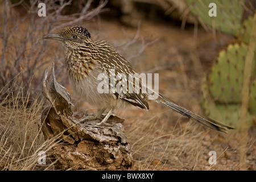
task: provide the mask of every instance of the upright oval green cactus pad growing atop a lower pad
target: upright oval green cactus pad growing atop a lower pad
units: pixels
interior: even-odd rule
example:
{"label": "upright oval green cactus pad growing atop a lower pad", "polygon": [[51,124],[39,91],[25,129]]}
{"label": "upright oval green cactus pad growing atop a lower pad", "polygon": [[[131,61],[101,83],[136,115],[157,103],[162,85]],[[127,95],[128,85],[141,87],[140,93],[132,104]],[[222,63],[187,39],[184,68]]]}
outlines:
{"label": "upright oval green cactus pad growing atop a lower pad", "polygon": [[246,55],[247,45],[243,43],[231,44],[225,51],[219,53],[217,62],[208,77],[209,91],[215,101],[241,102]]}

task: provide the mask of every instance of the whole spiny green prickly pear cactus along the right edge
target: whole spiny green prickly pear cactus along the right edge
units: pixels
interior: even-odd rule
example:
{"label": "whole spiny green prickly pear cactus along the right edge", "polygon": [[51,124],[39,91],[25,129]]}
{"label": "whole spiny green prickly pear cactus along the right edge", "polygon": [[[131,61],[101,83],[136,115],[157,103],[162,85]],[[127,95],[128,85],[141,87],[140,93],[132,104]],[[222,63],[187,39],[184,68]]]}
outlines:
{"label": "whole spiny green prickly pear cactus along the right edge", "polygon": [[[205,78],[201,89],[203,91],[204,113],[208,117],[227,125],[236,127],[241,114],[242,88],[246,58],[252,60],[252,74],[249,85],[249,114],[247,121],[256,121],[256,60],[255,50],[249,46],[256,44],[256,15],[242,20],[245,0],[185,0],[190,13],[204,26],[207,24],[214,30],[234,35],[236,44],[230,44],[218,55],[212,71]],[[210,3],[216,4],[217,16],[210,17]],[[245,8],[245,9],[243,9]],[[254,47],[254,46],[253,46]],[[248,53],[248,54],[247,54]],[[252,55],[252,56],[251,56]],[[249,62],[250,62],[249,61]],[[247,63],[249,63],[247,62]],[[251,62],[250,62],[251,64]]]}

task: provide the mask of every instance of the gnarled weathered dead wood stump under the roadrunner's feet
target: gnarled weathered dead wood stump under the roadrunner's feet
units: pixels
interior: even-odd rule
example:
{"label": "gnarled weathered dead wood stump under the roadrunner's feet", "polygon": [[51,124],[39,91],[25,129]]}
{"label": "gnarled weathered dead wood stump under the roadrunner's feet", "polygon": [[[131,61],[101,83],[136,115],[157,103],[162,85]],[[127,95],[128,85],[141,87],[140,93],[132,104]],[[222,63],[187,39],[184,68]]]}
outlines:
{"label": "gnarled weathered dead wood stump under the roadrunner's feet", "polygon": [[[70,94],[56,81],[54,64],[49,76],[48,70],[45,72],[43,94],[51,102],[42,113],[44,138],[51,139],[61,133],[60,139],[64,142],[50,151],[60,168],[131,169],[133,157],[122,124],[112,122],[111,126],[96,126],[93,125],[96,120],[81,123],[81,119],[73,117]],[[112,121],[120,119],[112,115]]]}

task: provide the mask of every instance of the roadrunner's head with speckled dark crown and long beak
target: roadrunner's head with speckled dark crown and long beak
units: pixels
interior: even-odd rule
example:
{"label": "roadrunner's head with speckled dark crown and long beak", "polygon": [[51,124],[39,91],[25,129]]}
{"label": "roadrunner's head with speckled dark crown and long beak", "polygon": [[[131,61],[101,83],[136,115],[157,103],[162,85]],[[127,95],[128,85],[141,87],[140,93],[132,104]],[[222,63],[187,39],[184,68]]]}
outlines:
{"label": "roadrunner's head with speckled dark crown and long beak", "polygon": [[79,44],[88,44],[91,42],[89,31],[82,26],[65,27],[57,34],[46,34],[44,39],[60,41],[66,48],[74,48]]}

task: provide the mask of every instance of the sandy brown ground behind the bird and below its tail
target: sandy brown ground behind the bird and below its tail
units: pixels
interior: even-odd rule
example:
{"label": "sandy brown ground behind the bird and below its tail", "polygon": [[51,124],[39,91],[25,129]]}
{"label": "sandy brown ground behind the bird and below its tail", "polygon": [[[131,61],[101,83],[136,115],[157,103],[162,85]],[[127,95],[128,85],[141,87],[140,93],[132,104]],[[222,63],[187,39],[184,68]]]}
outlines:
{"label": "sandy brown ground behind the bird and below its tail", "polygon": [[[176,23],[148,20],[142,20],[139,28],[129,28],[115,20],[101,19],[97,26],[94,24],[87,28],[93,40],[112,43],[138,73],[159,73],[159,93],[197,113],[202,113],[202,78],[218,52],[233,39],[221,33],[213,37],[211,32],[201,27],[195,35],[192,25],[181,30]],[[138,38],[130,44],[136,34]],[[90,107],[80,102],[79,110]],[[150,111],[130,106],[126,110],[115,111],[115,114],[125,118],[123,125],[136,169],[241,169],[239,151],[242,135],[239,131],[218,133],[152,101]],[[249,129],[246,152],[249,170],[256,169],[255,139],[254,126]],[[212,156],[210,151],[216,151],[216,165],[208,162]]]}

